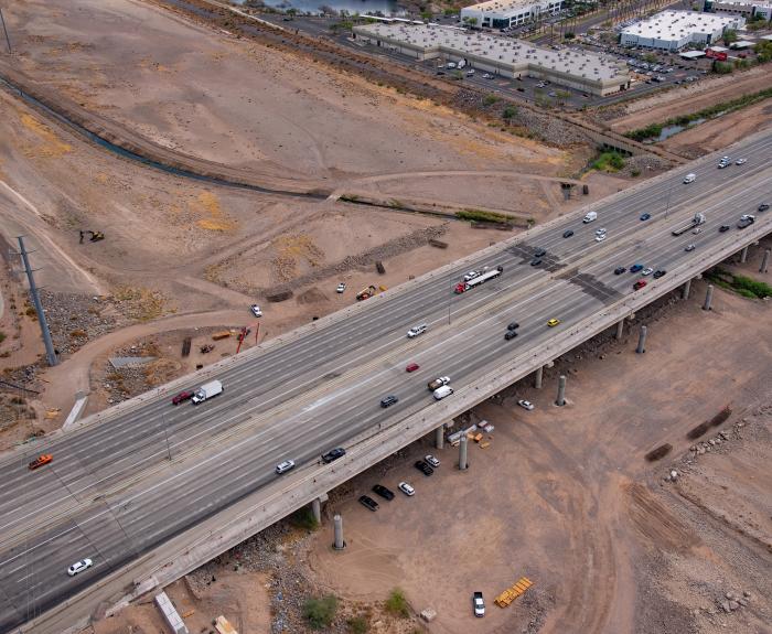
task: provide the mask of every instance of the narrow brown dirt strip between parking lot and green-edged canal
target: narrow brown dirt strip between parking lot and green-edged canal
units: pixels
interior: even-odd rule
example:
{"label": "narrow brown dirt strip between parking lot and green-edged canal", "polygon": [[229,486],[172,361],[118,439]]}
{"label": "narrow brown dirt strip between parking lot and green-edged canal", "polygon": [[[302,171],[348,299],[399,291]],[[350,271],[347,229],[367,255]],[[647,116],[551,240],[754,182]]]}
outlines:
{"label": "narrow brown dirt strip between parking lot and green-edged canal", "polygon": [[[609,125],[614,131],[628,132],[770,87],[772,87],[772,73],[766,66],[751,68],[741,74],[709,77],[694,84],[684,84],[653,97],[637,99],[621,108],[614,107],[613,111],[621,114],[611,119]],[[742,116],[742,112],[747,111],[742,110],[739,114]],[[753,120],[757,123],[761,121],[761,119]],[[698,128],[701,129],[703,126]]]}

